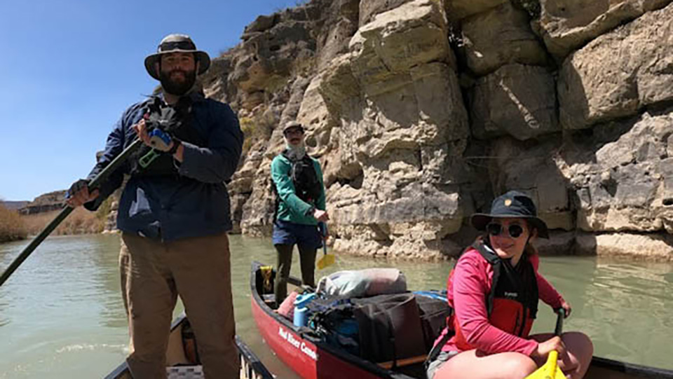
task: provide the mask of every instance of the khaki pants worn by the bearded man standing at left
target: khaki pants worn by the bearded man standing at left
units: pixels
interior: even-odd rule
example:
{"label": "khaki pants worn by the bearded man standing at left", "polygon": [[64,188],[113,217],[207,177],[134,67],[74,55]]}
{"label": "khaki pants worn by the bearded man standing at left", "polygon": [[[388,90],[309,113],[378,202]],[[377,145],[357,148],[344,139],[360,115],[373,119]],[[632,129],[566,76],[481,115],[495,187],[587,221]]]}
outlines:
{"label": "khaki pants worn by the bearded man standing at left", "polygon": [[172,311],[182,298],[205,378],[238,378],[226,233],[161,242],[122,233],[121,291],[136,379],[166,378]]}

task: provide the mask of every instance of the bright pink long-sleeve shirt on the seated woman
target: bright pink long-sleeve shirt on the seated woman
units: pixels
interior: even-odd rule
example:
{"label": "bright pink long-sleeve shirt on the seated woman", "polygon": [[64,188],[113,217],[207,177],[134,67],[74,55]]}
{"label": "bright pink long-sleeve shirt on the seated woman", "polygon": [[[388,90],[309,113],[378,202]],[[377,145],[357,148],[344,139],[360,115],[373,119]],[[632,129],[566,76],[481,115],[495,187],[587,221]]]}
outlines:
{"label": "bright pink long-sleeve shirt on the seated woman", "polygon": [[[533,264],[538,282],[539,298],[552,308],[559,308],[564,300],[558,291],[538,273],[540,263],[538,256],[533,255],[529,259]],[[465,251],[458,259],[454,273],[447,283],[449,305],[454,308],[454,317],[458,319],[463,335],[470,345],[489,354],[520,352],[530,355],[538,347],[536,341],[507,333],[489,323],[484,299],[490,294],[492,283],[493,267],[479,254],[479,251],[475,249]],[[442,336],[437,338],[437,341]],[[455,336],[452,337],[442,347],[442,351],[462,351],[456,346],[455,339]]]}

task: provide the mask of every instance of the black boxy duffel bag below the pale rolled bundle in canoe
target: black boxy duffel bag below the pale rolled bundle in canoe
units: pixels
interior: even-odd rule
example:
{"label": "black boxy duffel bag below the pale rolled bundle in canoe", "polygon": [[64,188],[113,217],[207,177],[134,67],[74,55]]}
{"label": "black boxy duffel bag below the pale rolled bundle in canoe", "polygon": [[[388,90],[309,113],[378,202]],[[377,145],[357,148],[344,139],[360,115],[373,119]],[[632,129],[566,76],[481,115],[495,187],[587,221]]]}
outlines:
{"label": "black boxy duffel bag below the pale rolled bundle in canoe", "polygon": [[[397,361],[426,354],[419,305],[411,292],[353,298],[360,331],[360,357]],[[395,363],[393,363],[395,365]]]}

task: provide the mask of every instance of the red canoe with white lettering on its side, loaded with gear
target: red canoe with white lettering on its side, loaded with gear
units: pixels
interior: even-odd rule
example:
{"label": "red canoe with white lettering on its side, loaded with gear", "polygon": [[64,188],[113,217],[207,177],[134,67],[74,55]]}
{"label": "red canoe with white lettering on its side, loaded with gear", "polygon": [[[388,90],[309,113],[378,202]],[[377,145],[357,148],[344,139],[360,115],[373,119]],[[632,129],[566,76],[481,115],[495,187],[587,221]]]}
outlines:
{"label": "red canoe with white lettering on its side, loaded with gear", "polygon": [[[273,290],[271,294],[262,291],[262,287],[273,289],[273,279],[264,286],[259,262],[252,263],[250,289],[252,291],[252,316],[262,338],[278,357],[290,366],[301,378],[305,379],[426,379],[423,371],[423,359],[407,362],[398,361],[395,371],[383,368],[390,364],[375,364],[360,357],[329,345],[307,333],[306,327],[297,327],[274,312],[269,304],[275,304]],[[301,281],[290,277],[290,284],[301,285]],[[406,365],[405,365],[406,364]],[[673,379],[673,371],[627,364],[611,359],[594,357],[587,379],[637,379],[657,378]]]}

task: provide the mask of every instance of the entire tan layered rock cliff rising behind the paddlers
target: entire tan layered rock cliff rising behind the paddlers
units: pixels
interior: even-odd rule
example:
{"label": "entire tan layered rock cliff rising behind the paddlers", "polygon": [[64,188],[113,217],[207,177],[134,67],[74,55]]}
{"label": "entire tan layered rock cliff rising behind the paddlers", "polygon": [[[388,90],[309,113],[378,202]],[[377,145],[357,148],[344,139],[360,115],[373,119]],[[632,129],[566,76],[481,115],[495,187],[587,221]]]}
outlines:
{"label": "entire tan layered rock cliff rising behind the paddlers", "polygon": [[[329,243],[456,256],[473,212],[529,193],[545,254],[673,260],[669,0],[313,0],[213,60],[246,132],[235,231],[271,231],[279,125],[320,160]],[[537,35],[536,35],[537,34]]]}

